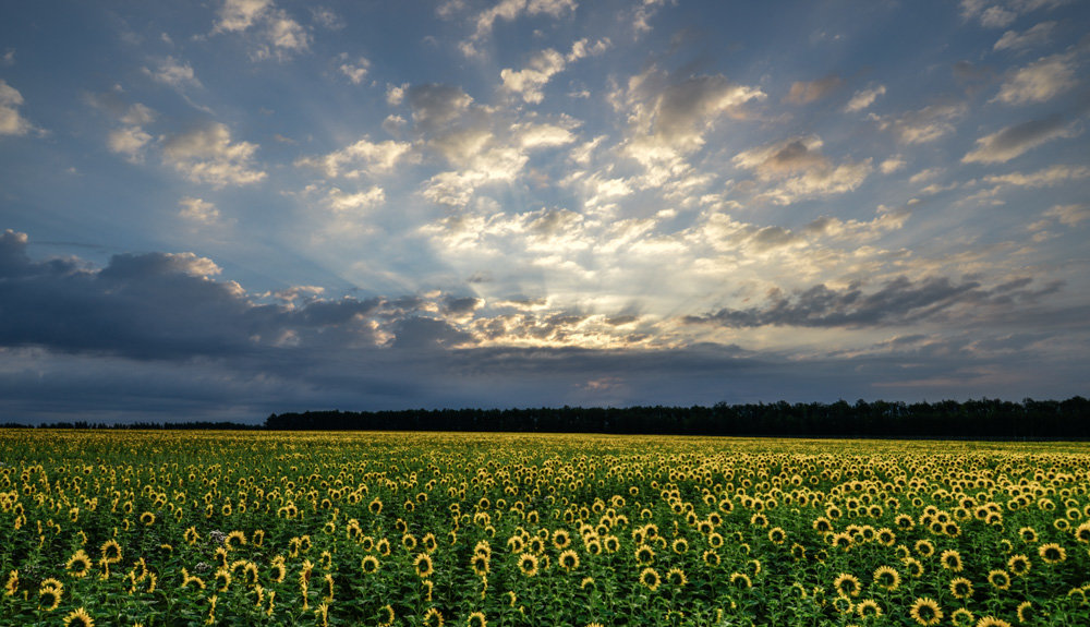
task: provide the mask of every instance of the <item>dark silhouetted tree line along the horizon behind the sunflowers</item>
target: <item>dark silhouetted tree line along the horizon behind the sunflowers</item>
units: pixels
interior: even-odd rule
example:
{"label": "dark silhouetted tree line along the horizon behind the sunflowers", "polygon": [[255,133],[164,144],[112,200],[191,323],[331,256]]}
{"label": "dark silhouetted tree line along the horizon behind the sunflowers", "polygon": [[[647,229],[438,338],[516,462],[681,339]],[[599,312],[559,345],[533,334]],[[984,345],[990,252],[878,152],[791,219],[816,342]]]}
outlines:
{"label": "dark silhouetted tree line along the horizon behind the sunflowers", "polygon": [[[24,426],[8,424],[4,426]],[[53,423],[39,429],[240,429],[266,431],[471,431],[616,433],[782,437],[877,437],[962,439],[1090,439],[1090,400],[958,402],[844,400],[833,403],[728,405],[713,407],[413,409],[306,411],[269,415],[264,424],[230,422],[89,424]]]}

